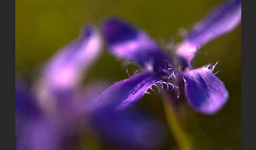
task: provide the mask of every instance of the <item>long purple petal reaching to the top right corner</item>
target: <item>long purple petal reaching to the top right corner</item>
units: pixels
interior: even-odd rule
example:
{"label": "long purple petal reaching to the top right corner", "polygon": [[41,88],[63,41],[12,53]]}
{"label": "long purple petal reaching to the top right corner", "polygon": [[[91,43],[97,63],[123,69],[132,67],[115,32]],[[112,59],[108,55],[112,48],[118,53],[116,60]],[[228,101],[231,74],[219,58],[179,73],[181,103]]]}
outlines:
{"label": "long purple petal reaching to the top right corner", "polygon": [[196,24],[178,48],[183,67],[191,66],[196,51],[207,42],[229,33],[241,22],[241,0],[231,0],[214,8]]}

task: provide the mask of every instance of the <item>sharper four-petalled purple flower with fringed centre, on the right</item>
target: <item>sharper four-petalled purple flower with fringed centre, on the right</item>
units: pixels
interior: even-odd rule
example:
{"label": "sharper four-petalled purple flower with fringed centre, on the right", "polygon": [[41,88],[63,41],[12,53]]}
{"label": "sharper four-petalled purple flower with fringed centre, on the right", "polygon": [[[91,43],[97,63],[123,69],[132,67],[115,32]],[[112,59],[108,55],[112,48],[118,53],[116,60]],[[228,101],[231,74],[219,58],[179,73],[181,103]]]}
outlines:
{"label": "sharper four-petalled purple flower with fringed centre, on the right", "polygon": [[[229,33],[241,22],[241,1],[229,1],[216,7],[210,15],[198,23],[178,47],[175,56],[168,56],[144,31],[140,31],[118,18],[105,20],[102,32],[110,52],[119,58],[132,61],[141,73],[116,82],[105,90],[94,106],[117,110],[127,108],[157,85],[166,91],[175,91],[176,97],[184,94],[189,104],[203,114],[218,112],[228,100],[228,91],[222,81],[213,73],[216,66],[209,64],[191,69],[192,60],[198,48],[210,40]],[[178,59],[184,71],[174,68]],[[160,88],[157,87],[157,89]]]}

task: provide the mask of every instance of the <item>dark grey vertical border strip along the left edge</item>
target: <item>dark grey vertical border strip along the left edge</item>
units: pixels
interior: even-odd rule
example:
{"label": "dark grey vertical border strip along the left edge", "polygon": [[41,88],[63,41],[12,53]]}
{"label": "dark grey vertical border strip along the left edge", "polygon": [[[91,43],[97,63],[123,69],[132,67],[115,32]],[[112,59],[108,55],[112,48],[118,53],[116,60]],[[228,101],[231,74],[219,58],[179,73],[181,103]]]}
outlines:
{"label": "dark grey vertical border strip along the left edge", "polygon": [[15,0],[1,7],[1,148],[15,149]]}

